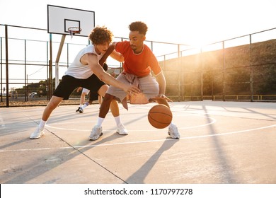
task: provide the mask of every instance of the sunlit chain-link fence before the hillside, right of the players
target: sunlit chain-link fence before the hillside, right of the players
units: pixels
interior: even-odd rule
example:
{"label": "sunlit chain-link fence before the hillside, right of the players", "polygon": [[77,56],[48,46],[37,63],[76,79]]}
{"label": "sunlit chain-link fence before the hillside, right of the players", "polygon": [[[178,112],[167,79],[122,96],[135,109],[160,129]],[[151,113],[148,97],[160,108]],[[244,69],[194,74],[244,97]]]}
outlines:
{"label": "sunlit chain-link fence before the hillside, right of the players", "polygon": [[[276,101],[276,28],[159,57],[173,100]],[[174,53],[177,56],[179,52]]]}

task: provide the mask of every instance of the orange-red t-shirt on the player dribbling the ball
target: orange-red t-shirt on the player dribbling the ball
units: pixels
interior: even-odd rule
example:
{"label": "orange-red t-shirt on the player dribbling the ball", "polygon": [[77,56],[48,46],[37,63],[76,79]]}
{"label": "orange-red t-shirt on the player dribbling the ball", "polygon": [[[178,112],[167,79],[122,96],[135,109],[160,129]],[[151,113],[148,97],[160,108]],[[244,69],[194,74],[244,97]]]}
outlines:
{"label": "orange-red t-shirt on the player dribbling the ball", "polygon": [[125,59],[123,69],[128,74],[135,76],[147,76],[154,71],[154,74],[161,72],[161,67],[149,47],[144,45],[144,49],[139,54],[134,54],[129,41],[117,42],[115,50],[120,52]]}

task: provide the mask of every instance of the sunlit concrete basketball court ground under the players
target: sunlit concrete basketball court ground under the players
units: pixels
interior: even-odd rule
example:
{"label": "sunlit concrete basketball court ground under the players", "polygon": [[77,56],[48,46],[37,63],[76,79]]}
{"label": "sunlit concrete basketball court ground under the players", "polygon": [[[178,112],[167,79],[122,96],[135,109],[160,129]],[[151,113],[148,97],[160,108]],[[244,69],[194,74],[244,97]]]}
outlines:
{"label": "sunlit concrete basketball court ground under the players", "polygon": [[29,136],[45,107],[0,108],[1,184],[275,184],[276,103],[173,102],[173,123],[155,129],[147,113],[156,103],[120,105],[127,136],[109,112],[103,136],[89,141],[99,105],[76,113],[57,107],[45,135]]}

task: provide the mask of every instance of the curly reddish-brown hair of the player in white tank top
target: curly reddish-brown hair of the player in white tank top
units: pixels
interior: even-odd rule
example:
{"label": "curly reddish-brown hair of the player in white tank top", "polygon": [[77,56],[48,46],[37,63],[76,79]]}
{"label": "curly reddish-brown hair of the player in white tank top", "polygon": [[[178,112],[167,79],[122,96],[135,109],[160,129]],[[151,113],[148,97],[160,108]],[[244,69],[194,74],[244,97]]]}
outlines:
{"label": "curly reddish-brown hair of the player in white tank top", "polygon": [[89,35],[89,39],[93,43],[93,45],[101,45],[105,44],[105,42],[112,42],[113,39],[113,33],[108,30],[105,26],[100,27],[97,26],[96,28],[93,28]]}

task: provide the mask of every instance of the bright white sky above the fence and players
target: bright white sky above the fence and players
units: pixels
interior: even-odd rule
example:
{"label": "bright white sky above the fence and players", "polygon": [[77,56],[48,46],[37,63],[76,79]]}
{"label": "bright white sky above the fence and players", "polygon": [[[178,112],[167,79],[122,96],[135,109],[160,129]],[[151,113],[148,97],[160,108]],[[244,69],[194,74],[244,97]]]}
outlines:
{"label": "bright white sky above the fence and players", "polygon": [[95,11],[96,25],[116,37],[143,21],[146,40],[192,46],[276,27],[275,0],[0,0],[0,24],[47,29],[47,4]]}

